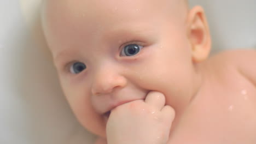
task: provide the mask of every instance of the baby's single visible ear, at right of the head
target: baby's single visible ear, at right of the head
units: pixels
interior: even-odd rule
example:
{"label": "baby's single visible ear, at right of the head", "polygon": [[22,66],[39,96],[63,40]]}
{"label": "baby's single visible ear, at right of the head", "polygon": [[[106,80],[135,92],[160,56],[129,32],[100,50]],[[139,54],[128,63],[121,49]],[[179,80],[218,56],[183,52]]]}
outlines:
{"label": "baby's single visible ear, at right of the head", "polygon": [[189,11],[187,24],[193,62],[204,61],[211,50],[211,36],[202,7],[195,6]]}

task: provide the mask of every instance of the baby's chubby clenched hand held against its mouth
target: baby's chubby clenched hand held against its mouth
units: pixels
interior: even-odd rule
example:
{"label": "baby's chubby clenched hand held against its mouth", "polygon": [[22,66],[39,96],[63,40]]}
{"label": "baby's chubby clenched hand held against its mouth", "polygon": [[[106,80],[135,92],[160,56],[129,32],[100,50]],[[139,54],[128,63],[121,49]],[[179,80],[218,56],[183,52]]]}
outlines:
{"label": "baby's chubby clenched hand held against its mouth", "polygon": [[165,105],[165,96],[149,92],[145,101],[135,100],[112,110],[107,123],[108,144],[165,144],[174,110]]}

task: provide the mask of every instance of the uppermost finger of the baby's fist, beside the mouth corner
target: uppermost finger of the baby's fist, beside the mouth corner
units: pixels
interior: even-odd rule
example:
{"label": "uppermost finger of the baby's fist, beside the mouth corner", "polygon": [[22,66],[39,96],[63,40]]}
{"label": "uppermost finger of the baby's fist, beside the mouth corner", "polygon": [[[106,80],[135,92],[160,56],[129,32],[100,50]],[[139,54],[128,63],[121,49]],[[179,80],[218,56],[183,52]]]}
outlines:
{"label": "uppermost finger of the baby's fist, beside the mouth corner", "polygon": [[165,95],[155,91],[149,92],[145,103],[154,106],[157,110],[161,110],[165,105]]}

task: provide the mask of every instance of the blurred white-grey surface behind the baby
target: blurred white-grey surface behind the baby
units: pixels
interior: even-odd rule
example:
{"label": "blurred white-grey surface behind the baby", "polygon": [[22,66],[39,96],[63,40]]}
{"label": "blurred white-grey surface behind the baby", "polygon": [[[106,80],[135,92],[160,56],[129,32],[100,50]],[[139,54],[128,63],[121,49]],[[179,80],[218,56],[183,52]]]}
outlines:
{"label": "blurred white-grey surface behind the baby", "polygon": [[[91,143],[63,98],[39,25],[40,0],[0,0],[0,143]],[[256,47],[255,0],[194,0],[213,51]],[[252,64],[255,67],[255,64]]]}

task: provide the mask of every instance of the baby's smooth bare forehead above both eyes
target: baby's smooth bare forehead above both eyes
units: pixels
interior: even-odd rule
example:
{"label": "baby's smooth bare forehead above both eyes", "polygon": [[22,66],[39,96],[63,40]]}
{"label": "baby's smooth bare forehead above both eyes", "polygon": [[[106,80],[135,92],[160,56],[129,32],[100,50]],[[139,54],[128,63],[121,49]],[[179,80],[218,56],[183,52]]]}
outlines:
{"label": "baby's smooth bare forehead above both eyes", "polygon": [[[43,26],[50,47],[74,47],[101,29],[154,25],[182,0],[44,0]],[[175,11],[175,10],[173,10]],[[170,16],[168,16],[170,17]],[[137,22],[137,23],[136,23]],[[133,25],[135,24],[135,25]],[[82,36],[82,37],[81,37]],[[71,40],[73,39],[73,40]],[[55,48],[54,48],[55,49]],[[59,49],[59,48],[58,48]]]}

